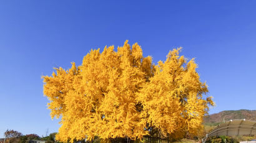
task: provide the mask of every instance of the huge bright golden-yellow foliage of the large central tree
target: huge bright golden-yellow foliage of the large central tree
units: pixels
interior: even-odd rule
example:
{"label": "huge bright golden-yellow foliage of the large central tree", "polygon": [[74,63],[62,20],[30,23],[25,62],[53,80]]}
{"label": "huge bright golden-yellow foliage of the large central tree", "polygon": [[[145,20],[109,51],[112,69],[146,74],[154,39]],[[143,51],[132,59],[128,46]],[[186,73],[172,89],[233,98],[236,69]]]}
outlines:
{"label": "huge bright golden-yellow foliage of the large central tree", "polygon": [[165,62],[152,63],[136,43],[128,41],[91,50],[82,65],[55,68],[43,76],[51,117],[61,118],[56,139],[67,142],[100,137],[142,139],[154,131],[162,139],[197,134],[211,97],[200,81],[194,59],[170,51]]}

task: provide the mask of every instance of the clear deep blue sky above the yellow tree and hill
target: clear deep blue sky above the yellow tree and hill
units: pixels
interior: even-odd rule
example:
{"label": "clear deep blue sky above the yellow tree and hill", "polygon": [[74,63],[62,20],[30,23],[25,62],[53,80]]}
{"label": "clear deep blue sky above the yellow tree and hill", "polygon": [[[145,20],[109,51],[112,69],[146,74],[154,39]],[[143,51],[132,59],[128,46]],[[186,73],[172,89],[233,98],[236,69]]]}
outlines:
{"label": "clear deep blue sky above the yellow tree and hill", "polygon": [[81,64],[91,48],[139,42],[156,63],[195,57],[217,104],[256,109],[256,1],[0,1],[0,137],[56,132],[42,75]]}

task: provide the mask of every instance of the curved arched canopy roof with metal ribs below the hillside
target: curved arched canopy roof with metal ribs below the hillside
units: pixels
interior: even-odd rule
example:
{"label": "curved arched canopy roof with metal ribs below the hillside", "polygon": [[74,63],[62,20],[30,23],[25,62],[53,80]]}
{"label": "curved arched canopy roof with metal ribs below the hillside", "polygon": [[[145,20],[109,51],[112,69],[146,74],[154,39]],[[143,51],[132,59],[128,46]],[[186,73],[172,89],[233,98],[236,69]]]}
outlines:
{"label": "curved arched canopy roof with metal ribs below the hillside", "polygon": [[207,137],[212,136],[239,136],[239,135],[256,135],[256,121],[249,121],[246,119],[236,119],[230,120],[223,124],[219,124],[214,130],[209,132],[203,142]]}

